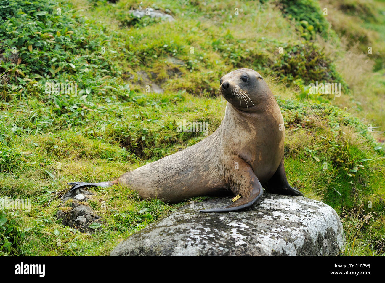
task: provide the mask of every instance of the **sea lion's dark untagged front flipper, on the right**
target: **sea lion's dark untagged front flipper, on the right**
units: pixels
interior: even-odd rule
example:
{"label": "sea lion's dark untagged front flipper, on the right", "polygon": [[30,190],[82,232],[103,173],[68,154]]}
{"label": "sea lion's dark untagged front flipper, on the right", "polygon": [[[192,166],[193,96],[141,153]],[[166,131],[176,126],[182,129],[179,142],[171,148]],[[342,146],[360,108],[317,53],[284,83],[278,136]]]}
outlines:
{"label": "sea lion's dark untagged front flipper, on the right", "polygon": [[285,172],[285,157],[273,177],[266,184],[266,190],[273,194],[285,194],[286,196],[304,196],[303,193],[290,186]]}

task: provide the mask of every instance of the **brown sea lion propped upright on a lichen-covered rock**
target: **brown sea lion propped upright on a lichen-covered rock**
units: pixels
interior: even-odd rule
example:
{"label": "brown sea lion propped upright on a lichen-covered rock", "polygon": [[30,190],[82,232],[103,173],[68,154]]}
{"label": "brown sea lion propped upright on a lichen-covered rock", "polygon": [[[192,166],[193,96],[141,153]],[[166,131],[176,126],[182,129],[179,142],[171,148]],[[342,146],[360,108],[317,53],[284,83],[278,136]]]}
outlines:
{"label": "brown sea lion propped upright on a lichen-covered rock", "polygon": [[71,190],[120,184],[139,191],[143,199],[170,203],[226,191],[237,196],[226,207],[203,212],[247,208],[262,197],[262,186],[271,193],[303,196],[286,179],[283,117],[261,75],[234,70],[221,78],[219,93],[227,100],[224,118],[203,141],[111,182],[69,183]]}

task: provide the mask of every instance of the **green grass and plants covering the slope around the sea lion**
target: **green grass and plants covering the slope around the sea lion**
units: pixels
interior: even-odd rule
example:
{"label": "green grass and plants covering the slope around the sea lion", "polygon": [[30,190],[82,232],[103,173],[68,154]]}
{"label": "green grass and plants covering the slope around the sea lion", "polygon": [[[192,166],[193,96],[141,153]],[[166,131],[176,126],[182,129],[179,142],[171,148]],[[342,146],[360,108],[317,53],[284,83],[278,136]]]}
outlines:
{"label": "green grass and plants covering the slope around the sea lion", "polygon": [[[177,132],[183,119],[208,121],[214,132],[226,106],[216,96],[219,78],[242,67],[263,74],[277,97],[290,183],[343,219],[342,255],[383,255],[385,152],[368,124],[384,129],[384,70],[378,58],[352,56],[362,50],[348,49],[338,30],[325,38],[328,23],[316,2],[306,7],[315,9],[305,11],[307,24],[296,22],[304,20],[302,10],[283,10],[286,1],[143,2],[171,13],[171,23],[133,21],[127,11],[138,8],[134,1],[72,2],[0,1],[10,5],[2,8],[8,18],[0,26],[0,58],[7,59],[0,61],[0,196],[32,203],[29,213],[0,214],[1,255],[108,255],[122,239],[189,203],[141,200],[119,186],[92,188],[89,205],[102,216],[102,229],[92,235],[57,221],[59,198],[47,204],[67,182],[110,181],[205,138]],[[346,17],[358,15],[350,8]],[[309,23],[317,28],[304,35],[301,27]],[[381,33],[372,25],[365,30]],[[359,67],[364,60],[369,67],[363,78],[341,64]],[[137,83],[141,70],[163,94]],[[45,93],[50,80],[76,82],[77,95]],[[315,80],[344,84],[343,95],[305,95]],[[363,85],[371,91],[360,90]],[[348,111],[352,104],[357,111]]]}

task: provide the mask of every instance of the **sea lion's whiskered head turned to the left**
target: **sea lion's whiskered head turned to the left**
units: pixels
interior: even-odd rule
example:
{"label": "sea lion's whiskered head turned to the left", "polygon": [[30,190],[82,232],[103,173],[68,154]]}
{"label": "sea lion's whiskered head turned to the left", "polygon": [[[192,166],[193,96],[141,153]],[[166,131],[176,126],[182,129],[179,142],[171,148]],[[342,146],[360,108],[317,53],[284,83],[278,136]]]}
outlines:
{"label": "sea lion's whiskered head turned to the left", "polygon": [[262,76],[252,69],[238,69],[221,77],[219,94],[242,111],[253,111],[271,91]]}

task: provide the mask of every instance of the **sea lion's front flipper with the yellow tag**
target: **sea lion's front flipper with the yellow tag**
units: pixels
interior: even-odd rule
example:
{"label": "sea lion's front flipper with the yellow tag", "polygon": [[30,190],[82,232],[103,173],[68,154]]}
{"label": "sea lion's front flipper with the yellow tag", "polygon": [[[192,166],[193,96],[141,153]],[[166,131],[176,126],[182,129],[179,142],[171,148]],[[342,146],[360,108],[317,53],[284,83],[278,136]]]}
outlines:
{"label": "sea lion's front flipper with the yellow tag", "polygon": [[[239,163],[239,169],[234,175],[237,179],[238,184],[234,184],[233,186],[239,186],[240,188],[234,188],[232,191],[234,194],[240,194],[240,198],[234,198],[233,202],[228,206],[223,206],[221,208],[209,208],[209,209],[201,209],[201,212],[229,212],[236,211],[248,208],[253,204],[257,203],[259,199],[263,196],[263,188],[257,176],[255,176],[253,169],[251,169],[250,165],[244,161],[236,161]],[[244,195],[244,196],[242,196]],[[246,196],[248,195],[248,196]]]}

